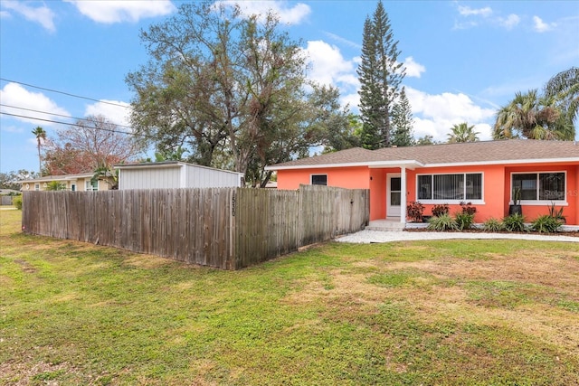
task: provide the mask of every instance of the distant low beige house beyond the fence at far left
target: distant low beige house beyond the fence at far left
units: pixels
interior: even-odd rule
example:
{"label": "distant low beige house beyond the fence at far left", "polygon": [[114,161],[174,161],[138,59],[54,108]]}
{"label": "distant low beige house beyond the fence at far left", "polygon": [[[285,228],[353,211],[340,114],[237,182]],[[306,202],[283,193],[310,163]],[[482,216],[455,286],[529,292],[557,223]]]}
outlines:
{"label": "distant low beige house beyond the fence at far left", "polygon": [[62,174],[62,175],[45,175],[40,178],[20,181],[22,184],[20,189],[23,192],[27,191],[45,191],[48,185],[54,181],[62,184],[65,191],[72,192],[97,192],[108,191],[114,184],[104,180],[92,180],[94,173],[84,174]]}

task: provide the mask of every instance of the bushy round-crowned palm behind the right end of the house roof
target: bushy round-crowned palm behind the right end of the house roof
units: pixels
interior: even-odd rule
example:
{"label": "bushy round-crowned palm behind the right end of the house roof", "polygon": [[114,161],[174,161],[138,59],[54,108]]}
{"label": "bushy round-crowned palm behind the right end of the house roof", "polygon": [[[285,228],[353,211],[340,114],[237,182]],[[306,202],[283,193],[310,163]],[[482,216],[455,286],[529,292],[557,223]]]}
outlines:
{"label": "bushy round-crowned palm behind the right end of the house roof", "polygon": [[517,92],[507,106],[500,108],[493,128],[495,139],[574,139],[573,122],[553,96],[539,96],[536,89]]}

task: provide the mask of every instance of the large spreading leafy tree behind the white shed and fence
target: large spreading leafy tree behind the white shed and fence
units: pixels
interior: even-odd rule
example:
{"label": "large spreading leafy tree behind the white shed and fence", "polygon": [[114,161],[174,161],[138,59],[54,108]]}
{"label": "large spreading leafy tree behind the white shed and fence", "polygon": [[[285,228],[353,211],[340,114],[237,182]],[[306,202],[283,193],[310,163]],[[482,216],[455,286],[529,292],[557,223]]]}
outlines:
{"label": "large spreading leafy tree behind the white shed and fence", "polygon": [[185,4],[141,40],[150,60],[127,76],[132,122],[158,152],[180,148],[183,160],[211,166],[230,157],[235,171],[265,184],[265,165],[321,144],[323,127],[311,125],[319,88],[308,83],[304,51],[274,14]]}

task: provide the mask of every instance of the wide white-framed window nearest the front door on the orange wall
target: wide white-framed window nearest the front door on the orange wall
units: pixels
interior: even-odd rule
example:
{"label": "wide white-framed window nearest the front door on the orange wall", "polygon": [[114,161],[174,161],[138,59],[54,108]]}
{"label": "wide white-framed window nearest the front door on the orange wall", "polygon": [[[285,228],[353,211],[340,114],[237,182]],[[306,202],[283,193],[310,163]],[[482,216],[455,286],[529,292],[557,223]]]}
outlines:
{"label": "wide white-framed window nearest the front door on the orange wall", "polygon": [[482,173],[418,174],[418,200],[460,202],[482,200]]}

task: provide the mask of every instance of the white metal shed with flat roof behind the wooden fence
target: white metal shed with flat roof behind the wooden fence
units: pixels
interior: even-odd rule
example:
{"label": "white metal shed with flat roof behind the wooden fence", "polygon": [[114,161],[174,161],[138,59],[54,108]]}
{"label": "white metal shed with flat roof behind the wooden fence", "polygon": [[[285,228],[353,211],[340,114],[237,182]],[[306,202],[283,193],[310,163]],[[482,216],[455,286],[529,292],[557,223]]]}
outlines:
{"label": "white metal shed with flat roof behind the wooden fence", "polygon": [[114,167],[119,170],[119,190],[243,186],[242,173],[179,161]]}

